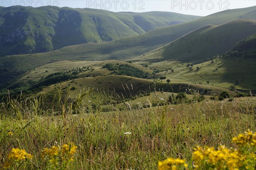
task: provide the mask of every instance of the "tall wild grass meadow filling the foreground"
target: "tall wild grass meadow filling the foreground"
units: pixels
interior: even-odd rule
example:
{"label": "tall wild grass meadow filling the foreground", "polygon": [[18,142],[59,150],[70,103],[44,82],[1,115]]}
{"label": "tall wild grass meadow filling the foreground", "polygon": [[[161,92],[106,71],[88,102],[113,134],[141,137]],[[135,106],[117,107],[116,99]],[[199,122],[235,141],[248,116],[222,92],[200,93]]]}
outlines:
{"label": "tall wild grass meadow filling the foreground", "polygon": [[[19,148],[28,160],[12,164],[13,169],[157,169],[158,161],[167,158],[185,159],[192,169],[194,148],[235,149],[239,144],[231,142],[233,137],[256,131],[255,97],[174,105],[169,94],[154,92],[119,104],[106,100],[105,107],[112,108],[108,112],[97,107],[100,100],[87,91],[72,103],[59,100],[47,108],[43,98],[7,97],[0,105],[0,167],[12,148]],[[56,161],[50,161],[54,148]],[[256,148],[244,150],[253,153]]]}

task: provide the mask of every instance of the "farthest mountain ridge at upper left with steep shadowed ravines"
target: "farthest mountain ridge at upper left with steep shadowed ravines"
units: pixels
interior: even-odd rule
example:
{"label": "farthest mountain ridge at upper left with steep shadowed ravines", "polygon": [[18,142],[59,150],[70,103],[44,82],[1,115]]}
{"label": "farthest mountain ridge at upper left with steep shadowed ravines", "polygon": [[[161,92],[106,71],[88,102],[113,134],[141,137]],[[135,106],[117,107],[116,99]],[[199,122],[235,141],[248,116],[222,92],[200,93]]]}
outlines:
{"label": "farthest mountain ridge at upper left with steep shadowed ravines", "polygon": [[110,36],[133,36],[155,28],[184,23],[198,16],[172,12],[111,12],[87,8],[1,7],[0,55],[52,51]]}

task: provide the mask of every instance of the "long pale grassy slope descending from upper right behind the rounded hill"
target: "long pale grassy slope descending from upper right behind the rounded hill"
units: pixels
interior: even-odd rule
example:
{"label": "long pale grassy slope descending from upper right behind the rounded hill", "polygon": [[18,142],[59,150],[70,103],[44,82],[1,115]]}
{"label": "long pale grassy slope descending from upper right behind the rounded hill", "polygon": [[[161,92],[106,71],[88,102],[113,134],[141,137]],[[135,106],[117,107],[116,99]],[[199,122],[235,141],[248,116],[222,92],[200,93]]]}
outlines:
{"label": "long pale grassy slope descending from upper right behind the rounded hill", "polygon": [[[40,65],[45,65],[50,60],[60,61],[65,59],[74,59],[76,57],[87,57],[88,59],[101,60],[131,59],[160,47],[161,45],[172,42],[172,35],[184,35],[207,24],[218,25],[239,18],[255,19],[255,13],[255,7],[227,10],[195,21],[177,24],[174,26],[166,26],[149,31],[148,33],[142,34],[143,37],[137,37],[135,43],[134,38],[130,37],[128,43],[113,41],[108,44],[79,44],[47,53],[6,56],[1,58],[1,60],[2,63],[11,65],[10,68],[28,71],[29,69],[36,68]],[[139,41],[142,40],[141,38],[143,38],[142,42],[144,43],[139,44]],[[19,62],[17,62],[17,57]]]}

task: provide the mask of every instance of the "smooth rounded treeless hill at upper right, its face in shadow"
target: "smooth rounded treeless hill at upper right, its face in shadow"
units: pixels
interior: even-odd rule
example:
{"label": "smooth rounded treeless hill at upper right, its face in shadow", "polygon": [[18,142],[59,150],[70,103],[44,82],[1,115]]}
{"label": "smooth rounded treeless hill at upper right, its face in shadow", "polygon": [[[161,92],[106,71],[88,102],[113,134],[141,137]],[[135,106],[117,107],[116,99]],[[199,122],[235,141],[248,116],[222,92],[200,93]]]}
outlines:
{"label": "smooth rounded treeless hill at upper right, its face in shadow", "polygon": [[187,58],[192,62],[202,62],[213,55],[223,54],[236,45],[236,42],[255,32],[256,20],[241,19],[219,26],[208,25],[135,59]]}

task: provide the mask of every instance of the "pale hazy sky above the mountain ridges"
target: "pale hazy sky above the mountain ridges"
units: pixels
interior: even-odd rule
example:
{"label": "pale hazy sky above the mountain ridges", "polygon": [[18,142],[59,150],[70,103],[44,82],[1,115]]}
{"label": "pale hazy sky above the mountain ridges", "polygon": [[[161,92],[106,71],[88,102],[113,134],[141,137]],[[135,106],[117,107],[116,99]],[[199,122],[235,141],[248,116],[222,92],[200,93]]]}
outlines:
{"label": "pale hazy sky above the mountain ridges", "polygon": [[0,6],[32,6],[49,8],[94,8],[113,12],[169,11],[207,16],[219,11],[256,6],[255,0],[0,0]]}

